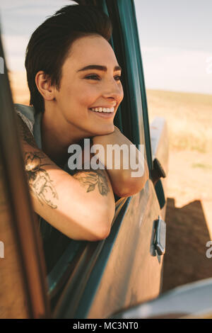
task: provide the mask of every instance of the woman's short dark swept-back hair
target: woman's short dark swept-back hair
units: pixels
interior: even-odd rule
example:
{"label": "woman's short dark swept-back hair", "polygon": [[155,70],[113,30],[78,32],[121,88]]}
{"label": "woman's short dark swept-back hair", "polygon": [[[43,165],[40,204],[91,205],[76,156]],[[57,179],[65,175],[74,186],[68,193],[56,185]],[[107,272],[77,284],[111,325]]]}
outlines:
{"label": "woman's short dark swept-back hair", "polygon": [[47,18],[33,33],[25,55],[25,69],[30,89],[30,105],[36,113],[44,111],[44,99],[37,90],[35,76],[40,70],[59,90],[61,67],[72,43],[83,36],[98,34],[110,40],[110,18],[94,6],[64,6]]}

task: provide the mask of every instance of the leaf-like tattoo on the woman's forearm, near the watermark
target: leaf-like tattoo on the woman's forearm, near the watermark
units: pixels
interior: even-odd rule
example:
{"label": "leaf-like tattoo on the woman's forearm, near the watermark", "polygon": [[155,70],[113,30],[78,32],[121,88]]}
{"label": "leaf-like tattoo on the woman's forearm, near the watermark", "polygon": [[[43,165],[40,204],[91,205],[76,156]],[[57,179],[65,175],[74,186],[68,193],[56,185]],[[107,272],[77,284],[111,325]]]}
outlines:
{"label": "leaf-like tattoo on the woman's forearm, near the watermark", "polygon": [[[85,171],[88,172],[85,175]],[[73,177],[80,181],[82,186],[88,187],[87,192],[94,191],[95,186],[98,186],[98,190],[102,196],[107,196],[110,188],[107,184],[107,177],[104,172],[98,170],[81,170],[77,174],[73,174]]]}

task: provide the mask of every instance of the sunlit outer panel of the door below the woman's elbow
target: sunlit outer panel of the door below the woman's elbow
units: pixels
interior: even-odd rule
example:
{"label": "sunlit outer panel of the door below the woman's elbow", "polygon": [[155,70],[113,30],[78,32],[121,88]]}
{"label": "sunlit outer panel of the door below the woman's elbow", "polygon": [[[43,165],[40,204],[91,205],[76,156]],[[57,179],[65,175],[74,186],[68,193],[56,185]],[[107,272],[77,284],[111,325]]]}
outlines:
{"label": "sunlit outer panel of the door below the woman's elbow", "polygon": [[[151,181],[131,198],[88,317],[112,313],[158,296],[163,256],[153,256],[160,210]],[[110,237],[106,239],[110,242]]]}

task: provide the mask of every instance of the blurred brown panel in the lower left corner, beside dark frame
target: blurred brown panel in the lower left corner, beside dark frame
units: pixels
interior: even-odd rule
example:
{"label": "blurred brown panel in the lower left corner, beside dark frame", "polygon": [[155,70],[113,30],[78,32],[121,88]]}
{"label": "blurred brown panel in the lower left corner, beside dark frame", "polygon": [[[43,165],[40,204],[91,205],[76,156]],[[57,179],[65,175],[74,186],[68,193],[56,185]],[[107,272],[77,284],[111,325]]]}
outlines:
{"label": "blurred brown panel in the lower left corner, beside dark frame", "polygon": [[[0,256],[0,318],[28,318],[28,295],[25,293],[13,216],[0,154],[0,240],[4,247]],[[13,292],[11,293],[11,290]]]}

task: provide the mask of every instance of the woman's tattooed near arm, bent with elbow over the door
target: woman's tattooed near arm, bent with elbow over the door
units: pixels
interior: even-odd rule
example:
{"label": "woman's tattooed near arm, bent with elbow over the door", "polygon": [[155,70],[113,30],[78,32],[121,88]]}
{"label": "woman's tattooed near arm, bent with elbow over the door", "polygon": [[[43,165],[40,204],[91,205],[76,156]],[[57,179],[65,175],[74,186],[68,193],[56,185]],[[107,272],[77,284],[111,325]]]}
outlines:
{"label": "woman's tattooed near arm, bent with elbow over the door", "polygon": [[72,239],[107,237],[114,217],[107,171],[80,170],[70,176],[38,149],[27,125],[17,117],[35,212]]}

